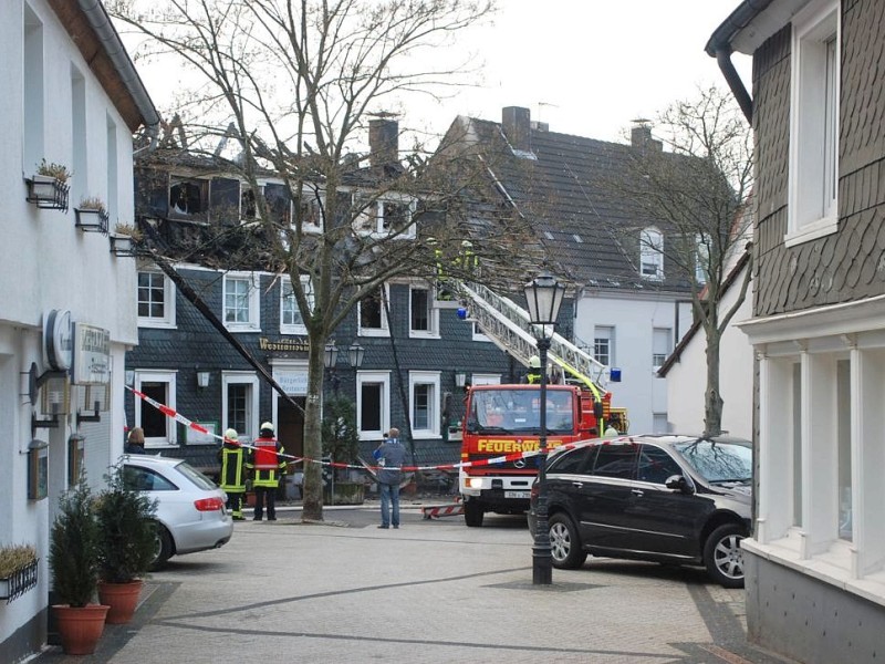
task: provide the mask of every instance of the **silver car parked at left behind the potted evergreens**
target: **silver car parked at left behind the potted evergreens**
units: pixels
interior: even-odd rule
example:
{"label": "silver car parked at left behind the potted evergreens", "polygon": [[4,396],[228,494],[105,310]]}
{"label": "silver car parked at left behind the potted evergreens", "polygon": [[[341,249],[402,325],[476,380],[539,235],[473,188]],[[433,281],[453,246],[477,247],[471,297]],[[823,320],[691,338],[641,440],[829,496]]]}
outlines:
{"label": "silver car parked at left behind the potted evergreens", "polygon": [[157,499],[156,556],[158,569],[173,556],[226,544],[233,519],[225,508],[227,495],[187,461],[162,456],[125,455],[126,486]]}

